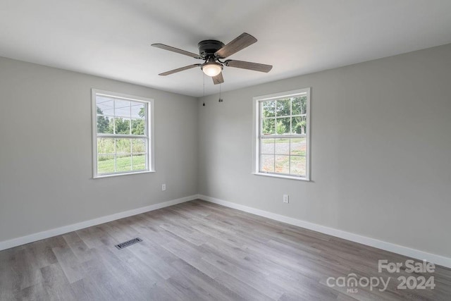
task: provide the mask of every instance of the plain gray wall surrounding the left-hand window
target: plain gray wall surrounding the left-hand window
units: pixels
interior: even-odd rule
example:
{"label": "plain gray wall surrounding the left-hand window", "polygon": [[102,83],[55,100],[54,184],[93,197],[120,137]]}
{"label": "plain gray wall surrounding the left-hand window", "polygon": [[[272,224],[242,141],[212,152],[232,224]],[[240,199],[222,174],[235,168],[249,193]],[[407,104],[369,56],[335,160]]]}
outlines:
{"label": "plain gray wall surrounding the left-hand window", "polygon": [[[93,87],[155,99],[156,173],[92,179]],[[196,193],[197,99],[0,58],[0,241]]]}

